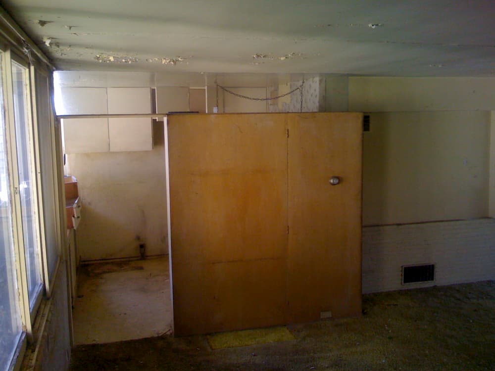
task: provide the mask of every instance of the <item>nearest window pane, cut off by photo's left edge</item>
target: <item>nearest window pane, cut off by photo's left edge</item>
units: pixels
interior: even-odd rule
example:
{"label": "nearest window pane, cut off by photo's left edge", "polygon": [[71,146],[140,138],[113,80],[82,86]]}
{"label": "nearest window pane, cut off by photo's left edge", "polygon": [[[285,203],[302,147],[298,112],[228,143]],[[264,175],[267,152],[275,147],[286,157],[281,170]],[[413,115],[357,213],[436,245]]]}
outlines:
{"label": "nearest window pane, cut off by photo's left edge", "polygon": [[[3,55],[0,53],[1,69],[3,69],[2,61]],[[6,370],[21,336],[21,321],[14,269],[12,204],[1,76],[0,72],[0,370]]]}

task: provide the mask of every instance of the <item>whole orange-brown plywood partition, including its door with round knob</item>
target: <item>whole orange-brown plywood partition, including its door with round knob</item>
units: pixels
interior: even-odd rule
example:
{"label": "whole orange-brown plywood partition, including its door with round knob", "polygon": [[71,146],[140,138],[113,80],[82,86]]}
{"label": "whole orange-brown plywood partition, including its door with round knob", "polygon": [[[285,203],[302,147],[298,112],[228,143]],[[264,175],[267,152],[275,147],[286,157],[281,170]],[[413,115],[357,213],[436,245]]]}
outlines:
{"label": "whole orange-brown plywood partition, including its door with round knob", "polygon": [[361,120],[168,118],[176,335],[360,311]]}

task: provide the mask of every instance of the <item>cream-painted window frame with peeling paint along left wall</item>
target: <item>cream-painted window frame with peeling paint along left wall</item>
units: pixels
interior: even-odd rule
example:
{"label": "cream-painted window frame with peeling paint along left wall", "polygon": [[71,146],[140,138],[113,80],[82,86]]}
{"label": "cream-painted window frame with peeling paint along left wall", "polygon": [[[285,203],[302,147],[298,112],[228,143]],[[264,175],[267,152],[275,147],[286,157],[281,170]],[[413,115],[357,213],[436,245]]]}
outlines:
{"label": "cream-painted window frame with peeling paint along left wall", "polygon": [[[14,49],[14,50],[13,50]],[[13,270],[16,273],[17,291],[12,299],[18,301],[19,312],[16,312],[16,316],[20,317],[22,324],[22,334],[14,352],[14,356],[10,361],[10,365],[0,365],[0,367],[7,366],[7,370],[20,370],[22,359],[24,357],[27,343],[34,342],[36,337],[41,334],[34,334],[35,320],[37,319],[37,313],[40,309],[43,298],[49,298],[53,292],[53,284],[56,279],[56,274],[59,270],[60,259],[63,253],[64,235],[62,234],[65,226],[65,219],[62,218],[62,214],[65,205],[63,204],[63,188],[61,188],[63,180],[59,178],[62,174],[61,163],[57,161],[57,155],[60,150],[60,140],[57,140],[59,135],[57,129],[57,123],[54,120],[53,107],[50,89],[52,89],[52,83],[50,81],[50,73],[42,64],[37,62],[33,63],[27,56],[16,52],[16,46],[6,41],[0,36],[0,51],[2,52],[2,85],[0,89],[3,92],[3,104],[4,104],[4,118],[5,118],[5,142],[6,142],[6,161],[8,166],[8,186],[10,189],[11,198],[11,219],[12,219],[12,239],[13,239],[13,254],[15,258]],[[21,202],[19,194],[19,174],[18,174],[18,162],[17,162],[17,142],[15,134],[15,115],[14,115],[14,103],[13,103],[13,81],[12,81],[12,61],[20,64],[25,70],[25,83],[26,83],[26,119],[28,120],[28,130],[31,136],[30,140],[30,162],[31,162],[31,178],[33,179],[34,189],[34,207],[33,217],[35,220],[36,228],[36,243],[39,248],[39,267],[41,273],[41,282],[38,291],[36,292],[36,300],[34,305],[30,307],[29,292],[28,292],[28,267],[26,266],[24,235],[22,229],[22,214],[21,214]],[[57,261],[54,271],[50,275],[48,266],[48,251],[46,243],[46,232],[43,214],[43,188],[41,178],[41,153],[40,146],[43,145],[39,141],[38,136],[38,111],[37,111],[37,92],[36,91],[36,74],[41,74],[44,78],[47,78],[48,83],[48,99],[49,99],[49,125],[50,125],[50,140],[51,140],[51,166],[53,170],[53,192],[52,198],[54,210],[55,210],[55,239],[56,239],[56,254]],[[57,131],[58,130],[58,131]],[[45,201],[46,201],[45,199]],[[36,336],[35,336],[36,335]]]}

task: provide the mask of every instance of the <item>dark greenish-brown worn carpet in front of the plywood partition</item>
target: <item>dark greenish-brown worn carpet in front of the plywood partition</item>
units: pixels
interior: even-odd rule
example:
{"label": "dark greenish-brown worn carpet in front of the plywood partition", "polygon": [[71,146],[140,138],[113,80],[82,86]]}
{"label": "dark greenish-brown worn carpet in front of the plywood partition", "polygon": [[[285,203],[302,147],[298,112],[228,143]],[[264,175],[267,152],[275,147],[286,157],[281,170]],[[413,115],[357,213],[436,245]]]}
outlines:
{"label": "dark greenish-brown worn carpet in front of the plywood partition", "polygon": [[296,340],[211,350],[170,335],[72,353],[72,371],[495,370],[495,281],[365,295],[363,316],[291,325]]}

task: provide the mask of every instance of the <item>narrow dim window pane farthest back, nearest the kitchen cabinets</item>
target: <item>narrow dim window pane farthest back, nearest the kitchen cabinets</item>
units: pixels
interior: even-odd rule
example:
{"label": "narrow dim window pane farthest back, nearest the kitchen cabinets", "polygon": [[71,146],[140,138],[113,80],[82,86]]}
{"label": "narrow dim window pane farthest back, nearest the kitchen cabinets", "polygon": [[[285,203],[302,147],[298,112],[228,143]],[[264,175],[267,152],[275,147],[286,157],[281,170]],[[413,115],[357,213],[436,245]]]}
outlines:
{"label": "narrow dim window pane farthest back, nearest the kitchen cabinets", "polygon": [[43,192],[43,215],[45,216],[45,237],[47,243],[49,277],[53,275],[58,260],[56,213],[54,198],[55,185],[53,183],[53,160],[50,123],[50,100],[48,78],[36,73],[36,99],[38,112],[38,139],[43,145],[40,147],[41,157],[41,188]]}

